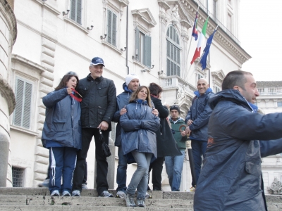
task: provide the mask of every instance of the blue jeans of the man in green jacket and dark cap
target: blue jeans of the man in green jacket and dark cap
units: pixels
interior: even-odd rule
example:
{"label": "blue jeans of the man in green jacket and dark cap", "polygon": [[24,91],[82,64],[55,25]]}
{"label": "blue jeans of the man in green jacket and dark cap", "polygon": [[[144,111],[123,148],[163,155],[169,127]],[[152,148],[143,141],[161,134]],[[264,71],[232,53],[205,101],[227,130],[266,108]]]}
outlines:
{"label": "blue jeans of the man in green jacket and dark cap", "polygon": [[182,150],[180,152],[182,155],[166,156],[164,161],[166,163],[166,173],[168,174],[171,191],[179,191],[180,188],[185,151]]}

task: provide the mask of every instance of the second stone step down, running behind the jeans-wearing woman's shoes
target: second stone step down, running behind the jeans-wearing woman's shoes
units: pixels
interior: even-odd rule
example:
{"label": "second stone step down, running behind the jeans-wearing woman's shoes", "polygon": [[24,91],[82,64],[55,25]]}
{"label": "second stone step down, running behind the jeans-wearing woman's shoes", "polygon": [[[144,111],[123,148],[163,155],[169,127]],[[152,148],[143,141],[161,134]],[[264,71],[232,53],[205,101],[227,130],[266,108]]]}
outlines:
{"label": "second stone step down, running behind the jeans-wearing woman's shoes", "polygon": [[[136,201],[135,201],[136,203]],[[171,207],[192,209],[192,200],[182,199],[146,199],[147,207]],[[125,207],[123,198],[102,197],[61,197],[61,196],[0,196],[0,205],[85,205],[104,207]]]}

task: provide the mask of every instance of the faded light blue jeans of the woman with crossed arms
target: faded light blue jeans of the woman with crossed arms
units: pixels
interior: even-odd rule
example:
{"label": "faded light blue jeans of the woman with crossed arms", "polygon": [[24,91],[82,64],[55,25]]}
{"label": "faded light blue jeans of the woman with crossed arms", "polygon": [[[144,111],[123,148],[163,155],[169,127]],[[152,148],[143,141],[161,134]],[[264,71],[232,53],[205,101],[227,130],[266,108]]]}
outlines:
{"label": "faded light blue jeans of the woman with crossed arms", "polygon": [[145,199],[152,153],[139,153],[137,151],[132,151],[131,153],[137,162],[137,170],[131,178],[126,193],[128,195],[133,195],[137,188],[137,198]]}

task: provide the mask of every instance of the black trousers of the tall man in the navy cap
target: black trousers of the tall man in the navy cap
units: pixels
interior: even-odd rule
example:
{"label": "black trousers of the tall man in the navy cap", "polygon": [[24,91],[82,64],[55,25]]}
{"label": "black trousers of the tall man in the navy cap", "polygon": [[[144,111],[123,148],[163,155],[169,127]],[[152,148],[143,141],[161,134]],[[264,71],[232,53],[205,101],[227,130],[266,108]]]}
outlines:
{"label": "black trousers of the tall man in the navy cap", "polygon": [[[106,144],[109,144],[109,132],[102,131],[102,134]],[[106,161],[106,156],[103,155],[102,141],[99,140],[99,129],[96,128],[82,128],[82,149],[78,151],[78,160],[73,174],[73,191],[82,190],[81,185],[85,172],[87,152],[93,136],[95,140],[95,157],[97,162],[97,192],[101,195],[103,191],[107,191],[109,188],[108,181],[106,180],[106,175],[108,174],[108,162]]]}

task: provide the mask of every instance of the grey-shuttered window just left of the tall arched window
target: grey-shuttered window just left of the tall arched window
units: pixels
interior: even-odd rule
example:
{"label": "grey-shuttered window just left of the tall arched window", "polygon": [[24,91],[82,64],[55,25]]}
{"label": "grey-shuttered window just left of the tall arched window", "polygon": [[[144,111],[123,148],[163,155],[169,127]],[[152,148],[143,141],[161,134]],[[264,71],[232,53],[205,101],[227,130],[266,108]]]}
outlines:
{"label": "grey-shuttered window just left of the tall arched window", "polygon": [[136,60],[140,63],[151,67],[151,37],[141,32],[137,27],[135,30],[135,54]]}

